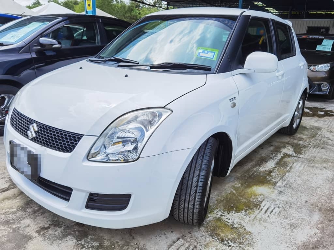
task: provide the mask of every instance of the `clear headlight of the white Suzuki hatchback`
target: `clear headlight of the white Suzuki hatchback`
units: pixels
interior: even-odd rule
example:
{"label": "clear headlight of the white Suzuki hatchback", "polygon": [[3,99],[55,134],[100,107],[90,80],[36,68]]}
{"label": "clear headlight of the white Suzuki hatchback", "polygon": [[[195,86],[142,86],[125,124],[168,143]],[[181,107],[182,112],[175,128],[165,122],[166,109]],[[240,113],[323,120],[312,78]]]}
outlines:
{"label": "clear headlight of the white Suzuki hatchback", "polygon": [[154,130],[172,113],[154,108],[126,114],[100,135],[88,154],[88,160],[128,162],[137,160]]}

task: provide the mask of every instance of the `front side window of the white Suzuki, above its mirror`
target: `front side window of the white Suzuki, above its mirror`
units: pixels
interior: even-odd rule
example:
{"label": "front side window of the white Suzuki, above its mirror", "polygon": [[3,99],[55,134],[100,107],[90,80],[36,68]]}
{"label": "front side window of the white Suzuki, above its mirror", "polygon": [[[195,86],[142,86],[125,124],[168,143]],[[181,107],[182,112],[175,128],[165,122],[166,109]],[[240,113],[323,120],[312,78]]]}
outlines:
{"label": "front side window of the white Suzuki, above its mirror", "polygon": [[273,37],[269,20],[251,19],[246,34],[241,44],[242,64],[249,54],[255,51],[263,51],[274,54]]}

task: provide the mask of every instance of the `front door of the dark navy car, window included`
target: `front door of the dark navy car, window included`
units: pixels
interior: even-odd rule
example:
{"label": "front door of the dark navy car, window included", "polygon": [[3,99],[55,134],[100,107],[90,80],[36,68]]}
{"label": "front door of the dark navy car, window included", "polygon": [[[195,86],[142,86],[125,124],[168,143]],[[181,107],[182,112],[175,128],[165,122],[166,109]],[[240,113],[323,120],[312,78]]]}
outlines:
{"label": "front door of the dark navy car, window included", "polygon": [[[39,38],[58,40],[59,50],[38,51]],[[95,56],[102,48],[96,18],[70,19],[53,26],[30,43],[36,75],[41,76],[54,69]]]}

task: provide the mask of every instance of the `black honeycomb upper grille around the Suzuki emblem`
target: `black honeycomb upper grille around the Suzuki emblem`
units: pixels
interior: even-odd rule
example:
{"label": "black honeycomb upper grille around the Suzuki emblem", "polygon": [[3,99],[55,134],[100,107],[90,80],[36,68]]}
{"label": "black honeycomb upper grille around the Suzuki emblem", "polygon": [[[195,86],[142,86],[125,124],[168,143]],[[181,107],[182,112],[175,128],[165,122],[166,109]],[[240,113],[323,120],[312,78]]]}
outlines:
{"label": "black honeycomb upper grille around the Suzuki emblem", "polygon": [[57,129],[37,122],[23,115],[15,108],[10,117],[10,125],[22,136],[29,139],[30,125],[36,123],[36,137],[30,140],[46,148],[54,149],[63,153],[71,153],[79,143],[83,135]]}

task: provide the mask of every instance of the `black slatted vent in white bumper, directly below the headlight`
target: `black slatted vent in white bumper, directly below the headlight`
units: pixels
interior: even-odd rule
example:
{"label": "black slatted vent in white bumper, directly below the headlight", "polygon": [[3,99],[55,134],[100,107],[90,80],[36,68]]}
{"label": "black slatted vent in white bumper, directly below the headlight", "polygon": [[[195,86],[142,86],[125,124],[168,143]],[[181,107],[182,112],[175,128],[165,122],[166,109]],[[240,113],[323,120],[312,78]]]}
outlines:
{"label": "black slatted vent in white bumper, directly below the headlight", "polygon": [[129,205],[131,194],[90,193],[86,208],[100,211],[122,211]]}

